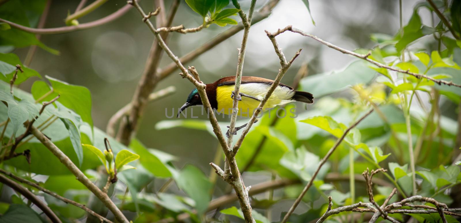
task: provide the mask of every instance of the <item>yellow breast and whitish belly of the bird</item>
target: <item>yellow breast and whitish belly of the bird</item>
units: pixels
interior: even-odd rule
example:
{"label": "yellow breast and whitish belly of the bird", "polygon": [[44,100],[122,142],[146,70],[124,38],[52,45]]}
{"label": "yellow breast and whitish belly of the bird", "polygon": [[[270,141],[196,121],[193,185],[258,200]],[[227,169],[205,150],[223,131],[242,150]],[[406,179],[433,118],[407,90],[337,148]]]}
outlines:
{"label": "yellow breast and whitish belly of the bird", "polygon": [[[216,100],[218,101],[218,112],[224,112],[225,114],[231,114],[232,109],[232,98],[231,94],[234,91],[234,85],[223,85],[216,89]],[[271,85],[266,83],[243,83],[240,86],[240,92],[263,100],[264,96],[269,91]],[[290,88],[284,86],[278,86],[275,88],[269,100],[263,110],[273,108],[275,106],[284,105],[291,101],[291,98],[295,92]],[[252,98],[242,96],[242,100],[238,102],[238,115],[244,117],[251,117],[254,110],[259,106],[260,101]]]}

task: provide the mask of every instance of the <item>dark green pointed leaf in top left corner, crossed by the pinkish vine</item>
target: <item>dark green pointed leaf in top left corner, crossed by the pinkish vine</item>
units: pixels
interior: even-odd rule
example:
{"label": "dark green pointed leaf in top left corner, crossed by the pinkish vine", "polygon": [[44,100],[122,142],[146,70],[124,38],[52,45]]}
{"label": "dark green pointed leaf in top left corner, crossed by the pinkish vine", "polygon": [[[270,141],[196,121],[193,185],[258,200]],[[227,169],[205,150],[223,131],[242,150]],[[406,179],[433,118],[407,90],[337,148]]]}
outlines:
{"label": "dark green pointed leaf in top left corner, crossed by the pinkish vine", "polygon": [[[27,18],[27,15],[30,15],[30,13],[25,10],[28,5],[29,4],[23,5],[19,0],[7,1],[0,7],[1,18],[30,27],[29,19]],[[29,47],[31,45],[37,45],[50,53],[56,55],[59,54],[59,51],[45,46],[45,44],[35,37],[35,34],[16,28],[0,32],[0,45],[14,47]]]}

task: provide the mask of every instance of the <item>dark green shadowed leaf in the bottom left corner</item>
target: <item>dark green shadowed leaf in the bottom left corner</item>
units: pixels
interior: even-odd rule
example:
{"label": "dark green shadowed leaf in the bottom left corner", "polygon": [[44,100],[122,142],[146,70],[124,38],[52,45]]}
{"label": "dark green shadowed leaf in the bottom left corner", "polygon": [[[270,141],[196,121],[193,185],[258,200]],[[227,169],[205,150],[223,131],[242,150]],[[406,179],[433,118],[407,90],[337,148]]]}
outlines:
{"label": "dark green shadowed leaf in the bottom left corner", "polygon": [[2,223],[26,223],[26,222],[34,222],[34,223],[45,223],[39,215],[35,213],[27,205],[19,205],[19,204],[12,204],[8,211],[2,216],[0,216],[0,222]]}

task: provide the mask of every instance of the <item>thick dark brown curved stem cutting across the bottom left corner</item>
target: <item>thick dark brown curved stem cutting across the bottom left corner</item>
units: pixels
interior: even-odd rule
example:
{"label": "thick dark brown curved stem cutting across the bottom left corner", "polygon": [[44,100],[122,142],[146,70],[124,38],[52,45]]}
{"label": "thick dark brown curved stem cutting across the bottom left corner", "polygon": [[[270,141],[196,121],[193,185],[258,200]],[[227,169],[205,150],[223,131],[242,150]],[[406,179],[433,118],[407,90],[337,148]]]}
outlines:
{"label": "thick dark brown curved stem cutting across the bottom left corner", "polygon": [[40,210],[42,210],[43,213],[45,213],[53,223],[61,223],[61,220],[59,219],[59,217],[56,216],[56,214],[54,214],[54,212],[51,211],[51,209],[45,203],[43,203],[43,201],[37,198],[35,194],[27,190],[27,188],[24,188],[22,185],[8,179],[6,176],[3,176],[3,175],[0,175],[0,182],[4,183],[10,188],[13,188],[19,194],[24,195],[25,198],[27,198],[32,203],[34,203],[34,205],[40,208]]}

